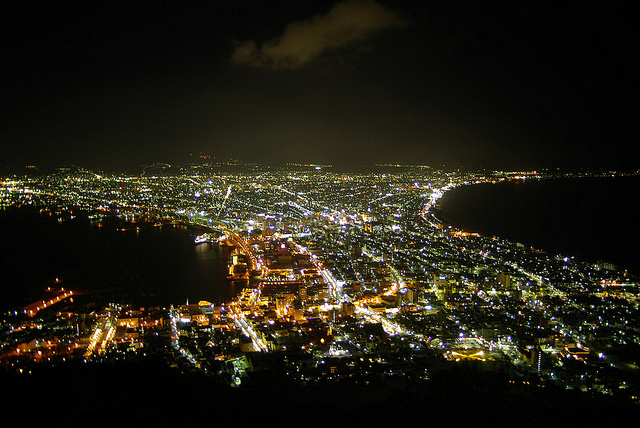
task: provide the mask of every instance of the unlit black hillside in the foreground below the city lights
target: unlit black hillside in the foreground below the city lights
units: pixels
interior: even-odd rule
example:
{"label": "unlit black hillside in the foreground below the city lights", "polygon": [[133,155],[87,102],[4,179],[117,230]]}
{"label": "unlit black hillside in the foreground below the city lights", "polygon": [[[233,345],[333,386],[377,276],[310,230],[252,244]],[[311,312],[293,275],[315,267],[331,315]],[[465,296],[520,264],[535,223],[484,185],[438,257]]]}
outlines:
{"label": "unlit black hillside in the foreground below the city lights", "polygon": [[[637,420],[640,407],[560,388],[511,388],[448,370],[415,384],[295,386],[268,373],[243,388],[152,363],[81,365],[3,375],[5,421],[30,426],[603,426]],[[34,424],[34,425],[32,425]]]}

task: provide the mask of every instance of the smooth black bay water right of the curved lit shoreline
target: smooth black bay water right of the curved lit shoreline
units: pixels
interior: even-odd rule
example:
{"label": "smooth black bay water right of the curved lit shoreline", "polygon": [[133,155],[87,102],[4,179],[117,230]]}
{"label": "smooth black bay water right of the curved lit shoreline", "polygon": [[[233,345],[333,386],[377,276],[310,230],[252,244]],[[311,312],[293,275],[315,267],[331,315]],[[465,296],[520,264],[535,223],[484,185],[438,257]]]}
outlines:
{"label": "smooth black bay water right of the curved lit shoreline", "polygon": [[638,201],[640,177],[574,178],[459,187],[440,208],[461,229],[639,274]]}

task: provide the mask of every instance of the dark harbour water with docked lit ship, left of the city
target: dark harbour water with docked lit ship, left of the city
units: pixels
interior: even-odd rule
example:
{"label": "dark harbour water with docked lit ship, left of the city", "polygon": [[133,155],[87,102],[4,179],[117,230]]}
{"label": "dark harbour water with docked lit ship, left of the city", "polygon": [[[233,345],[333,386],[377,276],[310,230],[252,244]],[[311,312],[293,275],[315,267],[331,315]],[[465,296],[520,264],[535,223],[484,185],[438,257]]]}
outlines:
{"label": "dark harbour water with docked lit ship, left of the city", "polygon": [[226,279],[227,250],[194,244],[198,232],[118,219],[60,223],[30,208],[0,210],[0,296],[16,300],[59,278],[140,305],[231,300],[242,289]]}

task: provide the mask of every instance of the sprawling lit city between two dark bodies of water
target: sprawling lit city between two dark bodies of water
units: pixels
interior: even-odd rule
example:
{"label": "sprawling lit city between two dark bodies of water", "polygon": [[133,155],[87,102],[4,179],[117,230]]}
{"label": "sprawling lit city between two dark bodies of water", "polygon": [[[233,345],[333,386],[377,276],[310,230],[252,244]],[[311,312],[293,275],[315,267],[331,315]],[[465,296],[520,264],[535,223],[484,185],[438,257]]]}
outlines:
{"label": "sprawling lit city between two dark bodies of water", "polygon": [[3,317],[3,366],[158,353],[182,370],[242,385],[265,376],[415,382],[474,364],[509,382],[637,400],[635,277],[457,230],[435,210],[459,185],[544,174],[390,170],[198,166],[3,179],[5,205],[205,227],[215,239],[204,245],[228,245],[229,280],[245,284],[222,305],[16,311]]}

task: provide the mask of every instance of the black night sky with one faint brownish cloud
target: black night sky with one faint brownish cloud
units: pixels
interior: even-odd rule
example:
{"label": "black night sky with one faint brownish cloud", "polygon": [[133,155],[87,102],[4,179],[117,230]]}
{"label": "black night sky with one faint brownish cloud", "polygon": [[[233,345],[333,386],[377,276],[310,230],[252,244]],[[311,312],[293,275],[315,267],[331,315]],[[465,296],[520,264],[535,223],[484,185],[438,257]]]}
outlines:
{"label": "black night sky with one faint brownish cloud", "polygon": [[627,6],[12,3],[4,164],[640,167]]}

